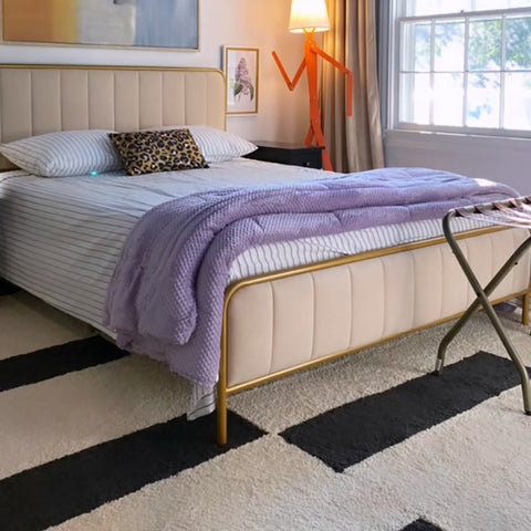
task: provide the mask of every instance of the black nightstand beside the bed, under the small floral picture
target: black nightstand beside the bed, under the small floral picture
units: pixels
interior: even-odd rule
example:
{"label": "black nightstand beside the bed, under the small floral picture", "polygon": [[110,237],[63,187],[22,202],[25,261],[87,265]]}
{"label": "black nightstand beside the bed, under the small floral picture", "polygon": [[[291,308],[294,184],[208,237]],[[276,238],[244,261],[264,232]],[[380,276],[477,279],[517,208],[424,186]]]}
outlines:
{"label": "black nightstand beside the bed, under the small floral picture", "polygon": [[306,168],[321,169],[323,167],[322,147],[287,142],[252,140],[252,143],[258,146],[258,149],[246,155],[247,158]]}

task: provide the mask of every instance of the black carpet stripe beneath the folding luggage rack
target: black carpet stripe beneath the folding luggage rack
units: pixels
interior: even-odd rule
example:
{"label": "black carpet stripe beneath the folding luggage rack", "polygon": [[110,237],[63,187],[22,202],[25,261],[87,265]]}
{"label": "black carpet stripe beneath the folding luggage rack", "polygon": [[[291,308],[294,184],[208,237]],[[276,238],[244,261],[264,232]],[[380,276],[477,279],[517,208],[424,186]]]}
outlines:
{"label": "black carpet stripe beneath the folding luggage rack", "polygon": [[281,436],[342,472],[519,384],[510,360],[479,352],[447,366],[440,376],[427,374],[345,404]]}

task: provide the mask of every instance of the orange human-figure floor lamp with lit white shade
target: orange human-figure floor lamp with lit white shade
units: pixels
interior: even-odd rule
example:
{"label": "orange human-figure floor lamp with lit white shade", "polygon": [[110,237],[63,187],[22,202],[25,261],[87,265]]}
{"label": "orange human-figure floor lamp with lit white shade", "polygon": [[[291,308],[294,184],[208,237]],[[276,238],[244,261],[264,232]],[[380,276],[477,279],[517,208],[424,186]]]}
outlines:
{"label": "orange human-figure floor lamp with lit white shade", "polygon": [[332,163],[330,162],[330,155],[326,150],[326,144],[324,142],[323,131],[321,128],[321,108],[319,106],[319,91],[317,91],[317,55],[324,61],[333,64],[337,70],[346,75],[346,114],[352,116],[352,72],[339,63],[334,58],[323,52],[317,43],[314,41],[313,35],[319,31],[330,30],[329,14],[326,12],[326,4],[324,0],[292,0],[291,2],[291,15],[290,24],[288,28],[292,32],[304,33],[306,35],[306,42],[304,43],[304,59],[299,66],[299,70],[290,80],[285,70],[277,55],[273,52],[273,59],[279,66],[280,73],[288,85],[290,91],[296,86],[304,69],[306,69],[308,75],[308,90],[310,93],[310,128],[308,131],[306,139],[304,144],[311,146],[315,138],[315,144],[323,148],[323,167],[324,169],[332,170]]}

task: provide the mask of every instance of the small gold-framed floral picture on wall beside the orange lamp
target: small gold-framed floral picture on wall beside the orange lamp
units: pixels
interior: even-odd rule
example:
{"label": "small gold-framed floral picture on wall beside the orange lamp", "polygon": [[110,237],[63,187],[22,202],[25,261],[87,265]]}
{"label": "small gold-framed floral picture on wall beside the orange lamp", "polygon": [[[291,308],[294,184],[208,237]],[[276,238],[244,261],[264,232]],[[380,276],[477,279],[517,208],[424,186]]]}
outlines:
{"label": "small gold-framed floral picture on wall beside the orange lamp", "polygon": [[258,113],[259,60],[258,48],[225,46],[227,114]]}

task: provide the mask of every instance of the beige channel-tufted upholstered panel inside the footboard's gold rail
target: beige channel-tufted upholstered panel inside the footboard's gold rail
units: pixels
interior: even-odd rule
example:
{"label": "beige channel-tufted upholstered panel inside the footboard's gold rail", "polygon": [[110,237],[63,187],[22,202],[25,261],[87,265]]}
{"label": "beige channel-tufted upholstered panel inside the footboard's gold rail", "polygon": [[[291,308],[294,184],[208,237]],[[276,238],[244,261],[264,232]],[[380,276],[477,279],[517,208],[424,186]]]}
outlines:
{"label": "beige channel-tufted upholstered panel inside the footboard's gold rail", "polygon": [[[527,237],[510,229],[460,243],[485,285]],[[521,294],[529,283],[527,254],[492,300]],[[473,299],[446,243],[244,287],[227,313],[228,387],[440,322]]]}

